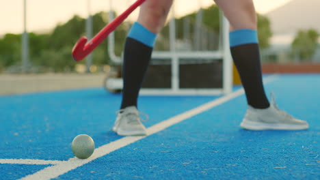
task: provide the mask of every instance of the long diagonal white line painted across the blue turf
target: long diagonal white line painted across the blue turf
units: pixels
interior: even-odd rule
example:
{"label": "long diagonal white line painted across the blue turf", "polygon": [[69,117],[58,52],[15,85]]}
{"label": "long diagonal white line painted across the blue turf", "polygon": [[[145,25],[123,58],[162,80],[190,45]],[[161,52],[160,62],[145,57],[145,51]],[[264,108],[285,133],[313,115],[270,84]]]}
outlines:
{"label": "long diagonal white line painted across the blue turf", "polygon": [[[276,75],[268,76],[264,81],[264,84],[267,84],[268,82],[273,81],[276,78]],[[230,93],[228,95],[225,95],[223,97],[219,97],[217,100],[213,100],[212,102],[208,102],[206,104],[203,104],[201,106],[198,106],[197,108],[191,109],[187,112],[183,112],[180,115],[176,115],[170,119],[167,119],[165,121],[162,121],[161,123],[157,123],[155,125],[152,125],[147,129],[148,135],[147,136],[126,136],[124,138],[120,138],[114,142],[110,142],[107,145],[103,145],[101,147],[98,147],[94,150],[94,153],[91,157],[85,160],[79,160],[76,157],[70,158],[68,161],[59,162],[58,164],[55,164],[53,166],[46,167],[42,170],[39,170],[38,172],[34,173],[33,175],[27,175],[26,177],[23,177],[21,180],[33,180],[33,179],[53,179],[55,177],[59,177],[60,175],[64,175],[66,172],[73,170],[75,168],[78,168],[79,166],[83,166],[84,164],[87,164],[89,162],[92,162],[93,160],[96,160],[99,157],[102,157],[104,155],[107,155],[111,153],[112,151],[116,151],[117,149],[120,149],[122,147],[125,147],[126,145],[130,145],[133,142],[136,142],[137,140],[141,140],[143,138],[146,138],[152,134],[155,134],[157,132],[160,132],[164,130],[167,127],[170,127],[176,123],[179,123],[181,121],[184,121],[186,119],[189,119],[190,117],[194,117],[195,115],[200,114],[201,112],[204,112],[206,110],[209,110],[215,106],[218,106],[220,104],[223,104],[224,102],[227,102],[228,100],[232,100],[235,97],[238,97],[239,95],[242,95],[244,93],[244,90],[241,88],[233,93]]]}

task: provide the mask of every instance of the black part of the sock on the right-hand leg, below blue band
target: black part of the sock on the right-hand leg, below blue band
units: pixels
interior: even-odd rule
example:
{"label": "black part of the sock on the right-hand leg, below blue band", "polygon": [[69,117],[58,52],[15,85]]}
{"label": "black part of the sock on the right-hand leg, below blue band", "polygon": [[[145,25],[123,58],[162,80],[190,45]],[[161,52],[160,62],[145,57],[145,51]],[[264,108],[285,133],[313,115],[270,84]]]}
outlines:
{"label": "black part of the sock on the right-hand leg, below blue band", "polygon": [[230,48],[239,72],[248,104],[254,108],[270,106],[263,87],[258,44],[241,44]]}

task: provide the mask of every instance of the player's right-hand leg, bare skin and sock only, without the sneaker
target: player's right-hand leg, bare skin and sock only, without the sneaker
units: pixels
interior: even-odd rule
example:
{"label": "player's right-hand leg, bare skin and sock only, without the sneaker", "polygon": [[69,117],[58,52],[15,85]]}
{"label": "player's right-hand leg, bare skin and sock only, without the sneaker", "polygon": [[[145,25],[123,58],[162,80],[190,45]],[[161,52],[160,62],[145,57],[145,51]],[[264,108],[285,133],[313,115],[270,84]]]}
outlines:
{"label": "player's right-hand leg, bare skin and sock only, without the sneaker", "polygon": [[252,0],[216,0],[230,22],[230,50],[245,89],[248,104],[267,108],[263,89],[256,33],[256,13]]}

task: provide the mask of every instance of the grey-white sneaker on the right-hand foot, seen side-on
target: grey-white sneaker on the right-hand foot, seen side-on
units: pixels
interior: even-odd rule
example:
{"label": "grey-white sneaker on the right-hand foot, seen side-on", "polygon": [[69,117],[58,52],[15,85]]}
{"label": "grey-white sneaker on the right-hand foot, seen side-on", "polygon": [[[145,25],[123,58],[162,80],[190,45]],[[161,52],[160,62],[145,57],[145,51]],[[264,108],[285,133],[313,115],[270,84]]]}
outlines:
{"label": "grey-white sneaker on the right-hand foot, seen side-on", "polygon": [[306,121],[295,119],[278,109],[273,93],[270,107],[256,109],[249,106],[240,126],[247,130],[306,130],[309,127]]}

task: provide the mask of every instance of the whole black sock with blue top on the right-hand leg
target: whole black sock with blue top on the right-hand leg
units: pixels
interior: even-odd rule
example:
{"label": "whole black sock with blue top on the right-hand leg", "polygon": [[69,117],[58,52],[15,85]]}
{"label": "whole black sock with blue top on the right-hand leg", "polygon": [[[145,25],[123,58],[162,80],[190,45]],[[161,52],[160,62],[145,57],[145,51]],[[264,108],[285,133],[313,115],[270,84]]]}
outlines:
{"label": "whole black sock with blue top on the right-hand leg", "polygon": [[270,104],[263,87],[256,30],[231,31],[230,51],[245,89],[248,104],[254,108],[268,108]]}

